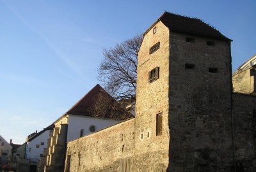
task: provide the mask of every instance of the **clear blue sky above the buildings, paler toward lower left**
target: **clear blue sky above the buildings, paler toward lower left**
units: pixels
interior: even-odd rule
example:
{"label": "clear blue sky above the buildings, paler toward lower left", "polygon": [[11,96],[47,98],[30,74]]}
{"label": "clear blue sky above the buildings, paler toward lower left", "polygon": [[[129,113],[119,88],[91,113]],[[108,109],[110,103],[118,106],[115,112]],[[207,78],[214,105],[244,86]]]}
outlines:
{"label": "clear blue sky above the buildings, paler toward lower left", "polygon": [[0,0],[0,134],[24,143],[98,82],[102,48],[141,34],[164,11],[232,39],[233,71],[256,54],[256,1]]}

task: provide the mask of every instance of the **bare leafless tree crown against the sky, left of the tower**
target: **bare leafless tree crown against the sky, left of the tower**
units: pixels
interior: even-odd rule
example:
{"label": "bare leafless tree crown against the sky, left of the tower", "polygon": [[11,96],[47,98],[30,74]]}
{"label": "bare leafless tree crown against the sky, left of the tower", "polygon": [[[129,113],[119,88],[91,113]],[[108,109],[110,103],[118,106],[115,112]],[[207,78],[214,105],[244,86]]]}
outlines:
{"label": "bare leafless tree crown against the sky, left of the tower", "polygon": [[104,60],[100,63],[99,80],[116,100],[135,101],[138,50],[143,36],[117,44],[113,48],[104,48]]}

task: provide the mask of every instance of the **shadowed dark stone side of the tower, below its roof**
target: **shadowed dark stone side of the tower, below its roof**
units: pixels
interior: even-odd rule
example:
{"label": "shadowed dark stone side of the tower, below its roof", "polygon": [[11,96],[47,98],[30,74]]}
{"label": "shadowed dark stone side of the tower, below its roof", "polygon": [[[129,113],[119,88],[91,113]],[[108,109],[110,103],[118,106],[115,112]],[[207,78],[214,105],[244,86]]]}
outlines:
{"label": "shadowed dark stone side of the tower, below its roof", "polygon": [[229,42],[170,33],[170,171],[232,171],[230,60]]}

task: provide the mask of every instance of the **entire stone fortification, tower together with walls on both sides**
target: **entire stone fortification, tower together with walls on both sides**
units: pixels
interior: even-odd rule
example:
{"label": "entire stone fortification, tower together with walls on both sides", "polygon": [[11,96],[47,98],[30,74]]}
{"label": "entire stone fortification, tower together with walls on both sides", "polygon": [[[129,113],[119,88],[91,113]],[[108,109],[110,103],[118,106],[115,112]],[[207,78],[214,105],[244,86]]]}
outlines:
{"label": "entire stone fortification, tower together with walls on both sides", "polygon": [[67,144],[68,171],[256,171],[256,97],[233,94],[230,39],[164,12],[138,52],[136,117]]}

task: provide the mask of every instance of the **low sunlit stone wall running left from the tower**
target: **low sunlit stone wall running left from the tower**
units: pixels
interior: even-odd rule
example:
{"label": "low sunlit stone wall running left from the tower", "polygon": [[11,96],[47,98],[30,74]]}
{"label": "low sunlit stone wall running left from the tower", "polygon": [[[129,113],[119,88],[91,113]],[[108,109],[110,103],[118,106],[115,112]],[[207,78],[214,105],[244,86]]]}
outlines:
{"label": "low sunlit stone wall running left from the tower", "polygon": [[65,171],[118,171],[120,161],[134,155],[134,122],[132,118],[68,142]]}

